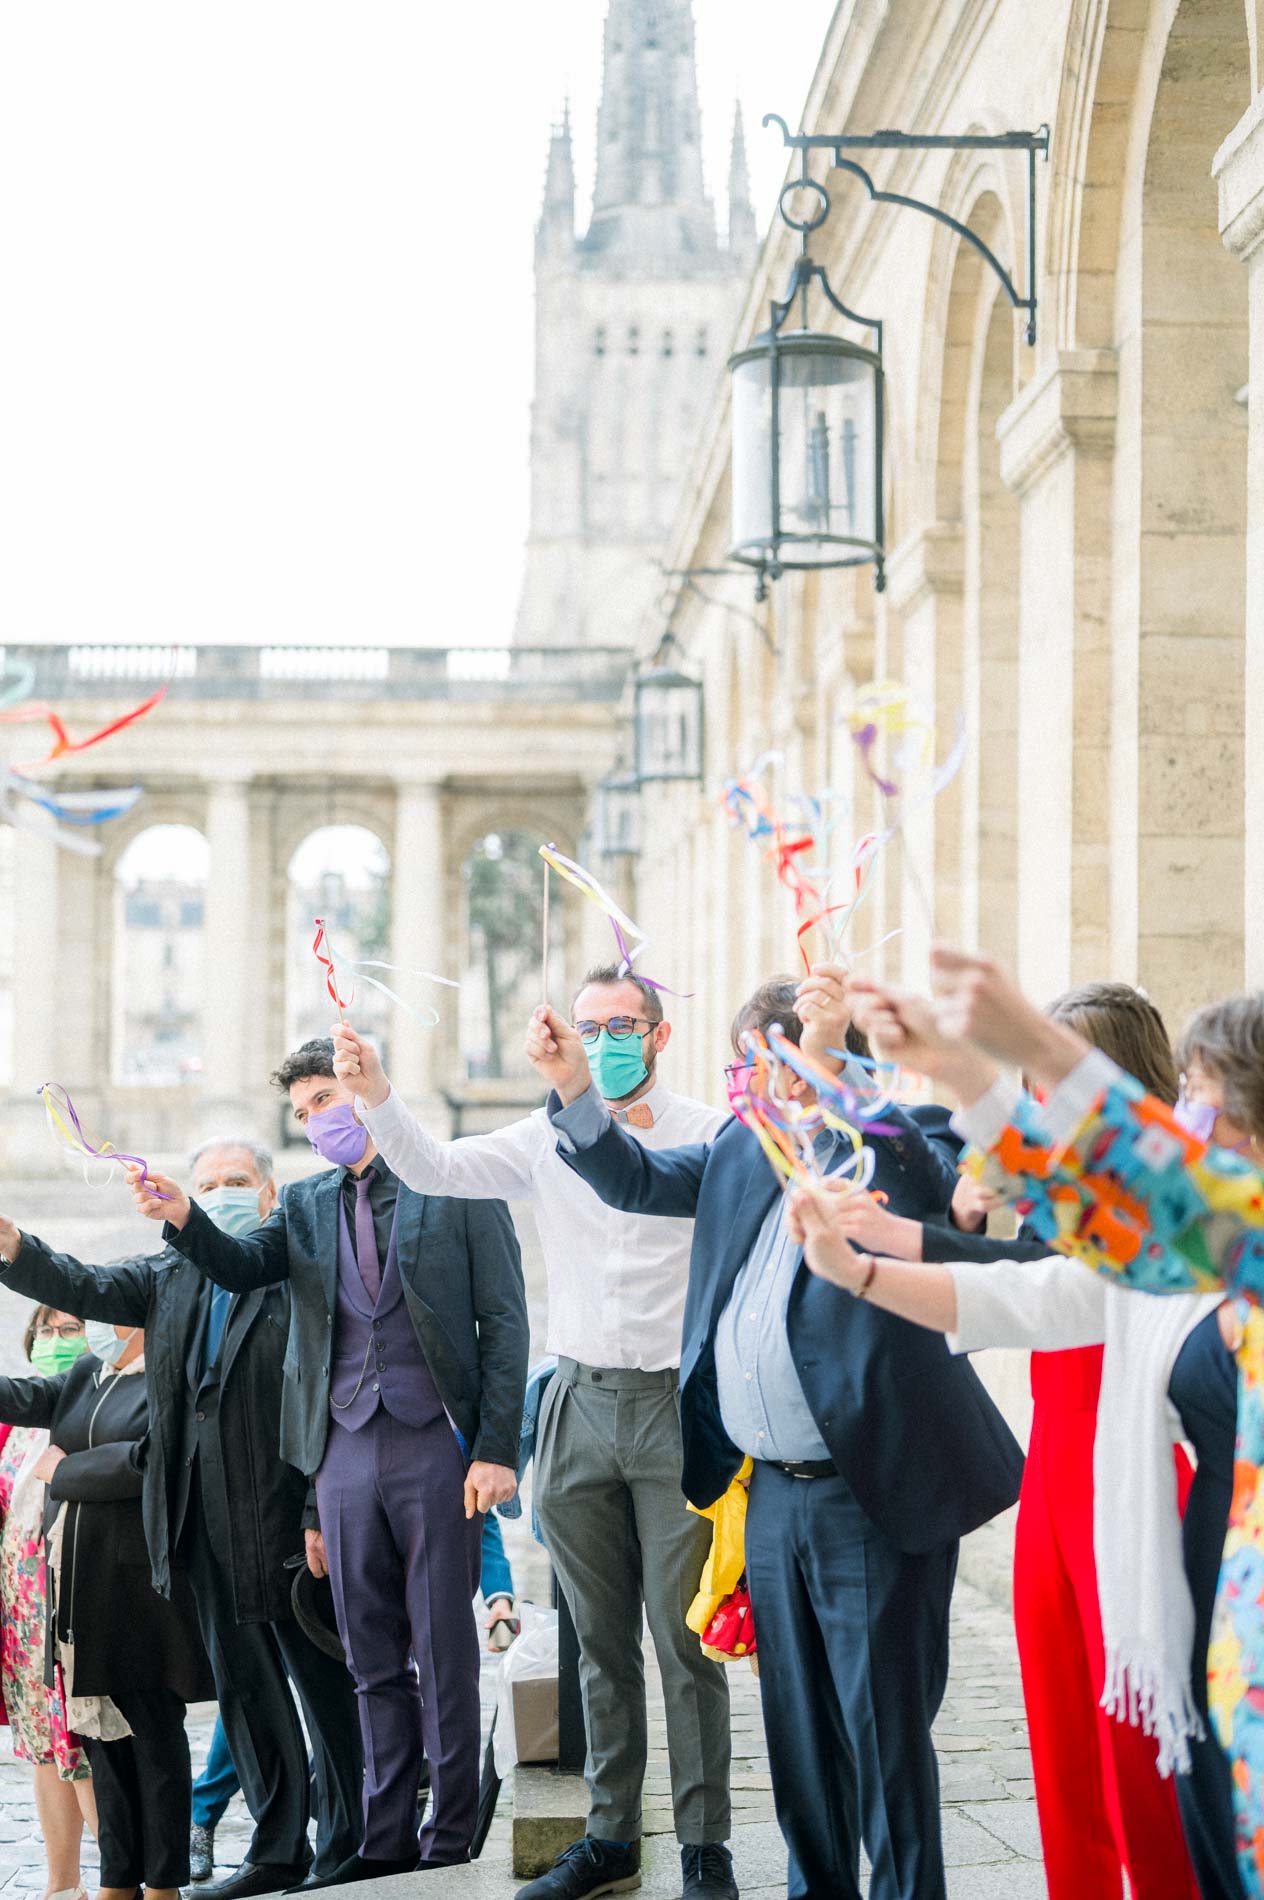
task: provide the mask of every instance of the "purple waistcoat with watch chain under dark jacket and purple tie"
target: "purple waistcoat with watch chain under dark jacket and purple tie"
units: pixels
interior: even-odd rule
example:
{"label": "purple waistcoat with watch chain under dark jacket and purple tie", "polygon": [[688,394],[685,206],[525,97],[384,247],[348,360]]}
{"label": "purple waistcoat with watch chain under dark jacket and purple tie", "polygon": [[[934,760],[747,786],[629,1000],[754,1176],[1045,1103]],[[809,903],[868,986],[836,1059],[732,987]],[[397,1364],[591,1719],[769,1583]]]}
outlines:
{"label": "purple waistcoat with watch chain under dark jacket and purple tie", "polygon": [[[361,1372],[363,1383],[355,1393]],[[354,1393],[355,1396],[352,1396]],[[382,1290],[374,1305],[355,1265],[352,1229],[346,1222],[342,1195],[338,1195],[338,1298],[329,1414],[346,1431],[359,1431],[378,1406],[386,1406],[401,1425],[420,1427],[443,1417],[439,1387],[426,1364],[403,1298],[395,1226],[392,1226]]]}

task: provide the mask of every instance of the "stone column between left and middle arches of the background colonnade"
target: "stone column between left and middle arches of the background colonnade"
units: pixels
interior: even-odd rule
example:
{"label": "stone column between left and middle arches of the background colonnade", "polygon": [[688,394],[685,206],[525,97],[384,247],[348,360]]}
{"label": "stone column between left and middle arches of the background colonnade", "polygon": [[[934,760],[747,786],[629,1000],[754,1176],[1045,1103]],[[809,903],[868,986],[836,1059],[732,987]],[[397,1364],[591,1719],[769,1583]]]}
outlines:
{"label": "stone column between left and middle arches of the background colonnade", "polygon": [[251,1030],[262,982],[262,942],[251,876],[251,806],[245,779],[217,779],[207,790],[207,904],[203,920],[201,1015],[203,1091],[198,1129],[207,1134],[253,1132],[251,1098],[266,1053]]}

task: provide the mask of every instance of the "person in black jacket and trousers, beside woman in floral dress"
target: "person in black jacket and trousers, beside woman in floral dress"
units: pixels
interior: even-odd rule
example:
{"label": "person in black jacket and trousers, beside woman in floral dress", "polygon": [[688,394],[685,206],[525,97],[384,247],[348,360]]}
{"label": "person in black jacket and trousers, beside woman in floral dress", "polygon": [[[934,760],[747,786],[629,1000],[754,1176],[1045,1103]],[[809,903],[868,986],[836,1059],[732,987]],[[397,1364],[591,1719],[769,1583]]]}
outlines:
{"label": "person in black jacket and trousers, beside woman in floral dress", "polygon": [[[188,1879],[184,1704],[215,1685],[188,1583],[156,1594],[141,1522],[144,1334],[89,1320],[87,1351],[49,1320],[49,1376],[0,1379],[0,1423],[48,1433],[42,1480],[49,1655],[97,1796],[97,1900],[177,1900]],[[36,1664],[38,1666],[38,1664]],[[74,1890],[74,1889],[72,1889]]]}

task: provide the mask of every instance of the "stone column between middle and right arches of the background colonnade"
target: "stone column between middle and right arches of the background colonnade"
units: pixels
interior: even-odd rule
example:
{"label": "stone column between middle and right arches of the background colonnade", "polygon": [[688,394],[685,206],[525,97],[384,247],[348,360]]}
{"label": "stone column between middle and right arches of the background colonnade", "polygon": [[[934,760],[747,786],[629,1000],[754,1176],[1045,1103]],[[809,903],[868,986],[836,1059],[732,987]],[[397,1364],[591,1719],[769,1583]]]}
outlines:
{"label": "stone column between middle and right arches of the background colonnade", "polygon": [[[460,977],[456,927],[445,904],[443,804],[431,779],[395,785],[395,849],[392,853],[392,963],[401,969]],[[424,1028],[403,1009],[392,1015],[392,1081],[409,1108],[437,1132],[447,1130],[443,1104],[443,1051],[454,1045],[456,990],[416,978],[392,980],[418,1007],[433,1003],[437,1028]]]}

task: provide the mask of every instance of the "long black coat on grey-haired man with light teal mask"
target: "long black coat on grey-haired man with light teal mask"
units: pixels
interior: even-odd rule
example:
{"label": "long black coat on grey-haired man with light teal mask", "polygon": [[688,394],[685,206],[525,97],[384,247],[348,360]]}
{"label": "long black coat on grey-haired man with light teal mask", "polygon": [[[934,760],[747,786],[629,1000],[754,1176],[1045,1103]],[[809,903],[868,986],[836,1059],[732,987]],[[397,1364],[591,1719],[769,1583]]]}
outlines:
{"label": "long black coat on grey-haired man with light teal mask", "polygon": [[[144,1326],[150,1446],[144,1535],[154,1588],[171,1590],[171,1564],[188,1503],[196,1450],[196,1372],[209,1290],[173,1248],[112,1267],[86,1267],[23,1235],[4,1284],[61,1313]],[[306,1480],[279,1455],[281,1360],[289,1290],[264,1286],[232,1302],[220,1347],[219,1429],[228,1490],[226,1568],[238,1623],[291,1615],[285,1560],[302,1550]],[[192,1374],[192,1378],[190,1378]]]}

